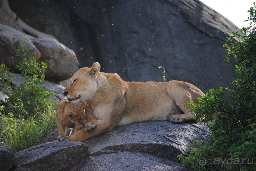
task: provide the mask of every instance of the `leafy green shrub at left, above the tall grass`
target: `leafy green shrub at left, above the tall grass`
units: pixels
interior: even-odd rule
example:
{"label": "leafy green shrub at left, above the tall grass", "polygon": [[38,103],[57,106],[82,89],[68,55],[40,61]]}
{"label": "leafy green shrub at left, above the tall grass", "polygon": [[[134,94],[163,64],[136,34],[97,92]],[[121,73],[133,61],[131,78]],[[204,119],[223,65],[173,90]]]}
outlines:
{"label": "leafy green shrub at left, above the tall grass", "polygon": [[[35,114],[45,113],[49,97],[51,93],[43,90],[44,73],[47,63],[37,62],[33,56],[29,56],[29,49],[21,42],[16,50],[16,56],[22,60],[16,65],[18,70],[24,75],[23,83],[17,87],[11,87],[13,75],[9,72],[4,64],[1,64],[0,70],[5,73],[1,75],[0,80],[5,83],[4,88],[7,89],[10,97],[7,99],[6,113],[12,112],[14,116],[23,116],[25,118],[33,117]],[[6,77],[7,76],[7,77]]]}

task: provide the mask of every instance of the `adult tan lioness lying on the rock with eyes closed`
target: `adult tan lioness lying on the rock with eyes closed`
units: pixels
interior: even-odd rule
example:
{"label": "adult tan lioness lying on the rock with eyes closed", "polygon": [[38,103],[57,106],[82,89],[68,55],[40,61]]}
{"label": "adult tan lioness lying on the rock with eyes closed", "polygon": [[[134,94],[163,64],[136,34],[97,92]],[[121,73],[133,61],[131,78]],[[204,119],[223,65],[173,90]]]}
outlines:
{"label": "adult tan lioness lying on the rock with eyes closed", "polygon": [[100,64],[80,68],[69,79],[63,94],[71,103],[82,100],[94,110],[98,127],[86,132],[77,131],[71,136],[59,136],[60,141],[85,141],[92,137],[129,123],[170,120],[173,123],[194,121],[195,113],[186,108],[187,103],[204,93],[183,81],[127,82],[118,74],[100,72]]}

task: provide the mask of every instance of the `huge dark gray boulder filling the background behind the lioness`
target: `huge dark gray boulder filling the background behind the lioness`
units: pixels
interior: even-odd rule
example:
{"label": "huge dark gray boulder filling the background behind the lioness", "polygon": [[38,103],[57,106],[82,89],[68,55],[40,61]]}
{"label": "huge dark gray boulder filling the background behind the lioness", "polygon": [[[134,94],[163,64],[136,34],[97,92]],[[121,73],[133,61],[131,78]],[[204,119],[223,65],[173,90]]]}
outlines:
{"label": "huge dark gray boulder filling the background behind the lioness", "polygon": [[10,1],[30,26],[74,50],[80,67],[127,81],[183,80],[207,92],[228,85],[233,66],[223,63],[226,36],[239,29],[199,0]]}

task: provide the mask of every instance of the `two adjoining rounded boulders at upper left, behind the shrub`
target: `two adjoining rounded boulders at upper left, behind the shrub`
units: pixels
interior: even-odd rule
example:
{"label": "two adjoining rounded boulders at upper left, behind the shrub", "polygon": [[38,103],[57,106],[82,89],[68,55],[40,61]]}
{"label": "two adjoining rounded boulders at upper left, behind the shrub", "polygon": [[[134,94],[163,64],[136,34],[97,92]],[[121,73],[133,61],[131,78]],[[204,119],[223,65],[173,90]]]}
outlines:
{"label": "two adjoining rounded boulders at upper left, behind the shrub", "polygon": [[52,38],[33,38],[14,28],[0,24],[0,63],[17,71],[16,65],[21,58],[16,57],[15,50],[20,41],[29,48],[29,55],[38,61],[48,63],[45,73],[47,78],[56,81],[69,79],[78,70],[78,61],[73,50]]}

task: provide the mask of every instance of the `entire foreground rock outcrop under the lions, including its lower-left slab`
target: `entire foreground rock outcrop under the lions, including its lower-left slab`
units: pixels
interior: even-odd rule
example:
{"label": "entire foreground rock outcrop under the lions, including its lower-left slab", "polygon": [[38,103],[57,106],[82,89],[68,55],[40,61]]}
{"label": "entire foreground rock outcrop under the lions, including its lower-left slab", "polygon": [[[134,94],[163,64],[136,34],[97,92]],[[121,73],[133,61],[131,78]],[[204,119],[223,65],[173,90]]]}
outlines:
{"label": "entire foreground rock outcrop under the lions, including its lower-left slab", "polygon": [[210,139],[203,123],[169,121],[128,124],[83,143],[58,142],[56,132],[45,143],[15,153],[12,170],[185,171],[177,156],[187,156],[195,140]]}

